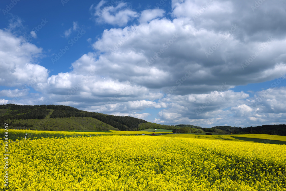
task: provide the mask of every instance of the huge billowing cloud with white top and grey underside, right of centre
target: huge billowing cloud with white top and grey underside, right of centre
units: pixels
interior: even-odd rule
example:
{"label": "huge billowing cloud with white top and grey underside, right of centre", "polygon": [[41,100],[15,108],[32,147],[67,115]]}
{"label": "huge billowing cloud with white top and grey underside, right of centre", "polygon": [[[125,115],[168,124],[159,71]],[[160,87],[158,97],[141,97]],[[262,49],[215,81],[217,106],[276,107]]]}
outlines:
{"label": "huge billowing cloud with white top and grey underside, right of centre", "polygon": [[[161,30],[162,27],[164,31]],[[231,27],[230,25],[230,29]],[[220,40],[222,44],[219,44]],[[105,57],[110,63],[107,63],[106,68],[110,66],[108,68],[112,69],[118,66],[114,69],[119,69],[120,75],[114,76],[115,78],[132,78],[132,74],[136,71],[121,69],[128,68],[126,64],[130,63],[133,65],[132,68],[136,68],[137,71],[140,69],[141,74],[136,75],[136,79],[148,88],[158,87],[166,90],[170,84],[178,84],[177,80],[183,77],[186,70],[190,70],[192,76],[181,83],[185,87],[184,90],[176,91],[177,94],[187,94],[194,91],[204,93],[217,90],[222,82],[231,88],[264,82],[280,76],[279,71],[286,71],[286,64],[273,60],[279,59],[279,56],[284,54],[281,47],[286,48],[285,39],[272,40],[265,47],[267,50],[259,52],[260,55],[256,56],[255,61],[247,64],[245,68],[242,67],[245,60],[249,60],[250,56],[255,54],[253,50],[259,51],[261,44],[267,43],[267,40],[266,37],[261,42],[243,43],[234,36],[226,36],[222,32],[196,29],[191,23],[185,23],[184,19],[180,18],[173,21],[152,20],[149,24],[140,26],[105,30],[102,38],[93,46],[95,50],[106,53],[102,55],[102,58]],[[207,58],[205,52],[216,44],[219,44],[219,48],[215,47],[216,50]],[[118,62],[111,66],[113,60]],[[255,69],[258,67],[260,70]],[[150,80],[147,78],[149,71],[154,71],[153,75],[150,75]],[[165,87],[162,81],[166,82]]]}

